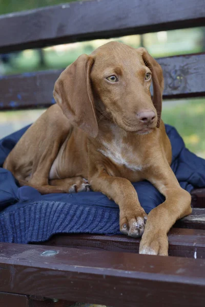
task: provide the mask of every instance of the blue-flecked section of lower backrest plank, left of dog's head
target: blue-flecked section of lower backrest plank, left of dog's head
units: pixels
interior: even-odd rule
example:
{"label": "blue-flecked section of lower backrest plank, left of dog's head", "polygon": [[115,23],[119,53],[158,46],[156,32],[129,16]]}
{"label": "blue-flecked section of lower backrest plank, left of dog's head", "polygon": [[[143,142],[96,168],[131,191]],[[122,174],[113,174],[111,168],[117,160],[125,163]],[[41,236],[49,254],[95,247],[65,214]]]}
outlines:
{"label": "blue-flecked section of lower backrest plank, left of dog's head", "polygon": [[48,107],[55,103],[54,83],[61,71],[43,71],[0,77],[0,111]]}

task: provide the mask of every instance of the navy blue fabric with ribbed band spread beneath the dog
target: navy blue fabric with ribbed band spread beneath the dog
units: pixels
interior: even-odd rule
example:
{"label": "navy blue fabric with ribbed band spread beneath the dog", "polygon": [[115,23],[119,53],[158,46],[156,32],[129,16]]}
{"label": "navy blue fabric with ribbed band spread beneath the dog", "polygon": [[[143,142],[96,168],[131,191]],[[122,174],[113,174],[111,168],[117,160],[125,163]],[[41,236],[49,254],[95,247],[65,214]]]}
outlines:
{"label": "navy blue fabric with ribbed band spread beneath the dog", "polygon": [[[0,141],[0,241],[41,242],[56,233],[119,234],[119,209],[100,192],[40,193],[19,187],[4,160],[25,133],[25,127]],[[172,144],[172,170],[187,191],[205,187],[205,160],[191,153],[176,129],[166,125]],[[141,206],[149,213],[164,197],[147,181],[133,183]]]}

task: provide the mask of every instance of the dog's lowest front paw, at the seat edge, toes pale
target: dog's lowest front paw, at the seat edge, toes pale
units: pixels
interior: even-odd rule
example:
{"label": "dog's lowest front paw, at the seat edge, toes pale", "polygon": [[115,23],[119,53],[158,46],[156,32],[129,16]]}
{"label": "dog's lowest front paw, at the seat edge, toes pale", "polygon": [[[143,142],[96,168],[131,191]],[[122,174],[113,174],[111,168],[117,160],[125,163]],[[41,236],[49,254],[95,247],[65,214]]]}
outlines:
{"label": "dog's lowest front paw, at the seat edge, toes pale", "polygon": [[168,256],[167,234],[144,233],[139,245],[139,254]]}

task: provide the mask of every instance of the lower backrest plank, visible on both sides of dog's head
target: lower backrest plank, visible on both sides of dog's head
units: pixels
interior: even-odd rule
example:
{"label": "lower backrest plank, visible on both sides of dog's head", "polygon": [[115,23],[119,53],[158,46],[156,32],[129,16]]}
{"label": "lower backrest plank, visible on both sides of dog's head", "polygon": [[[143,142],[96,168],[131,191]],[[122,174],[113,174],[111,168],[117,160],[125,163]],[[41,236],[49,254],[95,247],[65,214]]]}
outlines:
{"label": "lower backrest plank, visible on both sides of dog's head", "polygon": [[[205,96],[205,53],[158,59],[165,75],[163,98]],[[55,103],[53,87],[62,70],[0,78],[0,111],[48,107]]]}

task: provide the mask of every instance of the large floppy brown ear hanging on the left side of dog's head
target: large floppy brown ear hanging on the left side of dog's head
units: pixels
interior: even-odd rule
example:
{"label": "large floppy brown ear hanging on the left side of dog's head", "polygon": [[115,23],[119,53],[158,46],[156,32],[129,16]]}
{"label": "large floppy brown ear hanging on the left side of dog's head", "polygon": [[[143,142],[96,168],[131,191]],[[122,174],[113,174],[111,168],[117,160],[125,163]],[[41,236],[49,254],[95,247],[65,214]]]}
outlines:
{"label": "large floppy brown ear hanging on the left side of dog's head", "polygon": [[98,126],[90,82],[93,62],[91,56],[80,55],[60,74],[55,82],[53,96],[64,115],[95,138]]}

